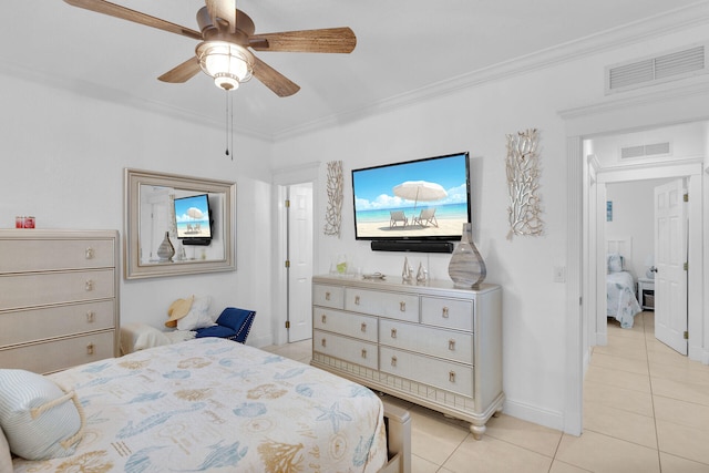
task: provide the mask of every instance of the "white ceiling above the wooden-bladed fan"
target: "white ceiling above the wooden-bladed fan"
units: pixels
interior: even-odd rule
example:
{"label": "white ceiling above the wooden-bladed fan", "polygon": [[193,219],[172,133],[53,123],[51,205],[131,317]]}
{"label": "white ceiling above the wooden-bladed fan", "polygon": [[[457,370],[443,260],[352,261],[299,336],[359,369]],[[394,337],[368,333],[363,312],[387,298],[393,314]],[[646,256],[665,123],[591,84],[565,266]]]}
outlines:
{"label": "white ceiling above the wooden-bladed fan", "polygon": [[[201,0],[115,0],[198,30]],[[301,90],[278,97],[257,80],[232,92],[236,127],[277,137],[381,109],[531,54],[596,40],[620,27],[639,34],[696,0],[237,0],[256,32],[350,27],[351,54],[260,52]],[[702,10],[703,11],[703,10]],[[194,54],[197,41],[78,9],[61,0],[3,0],[0,72],[53,82],[224,126],[225,92],[198,74],[185,84],[157,76]],[[626,40],[629,40],[626,37]]]}

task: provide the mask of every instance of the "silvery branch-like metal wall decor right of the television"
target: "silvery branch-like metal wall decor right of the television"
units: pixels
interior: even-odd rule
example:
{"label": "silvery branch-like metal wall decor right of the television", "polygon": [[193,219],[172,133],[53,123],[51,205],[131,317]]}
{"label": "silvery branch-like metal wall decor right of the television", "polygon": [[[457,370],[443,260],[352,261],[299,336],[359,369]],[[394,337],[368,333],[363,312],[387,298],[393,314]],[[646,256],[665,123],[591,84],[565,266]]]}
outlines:
{"label": "silvery branch-like metal wall decor right of the television", "polygon": [[507,188],[510,207],[507,207],[510,233],[513,235],[542,235],[544,223],[540,187],[538,132],[530,128],[517,134],[507,135]]}

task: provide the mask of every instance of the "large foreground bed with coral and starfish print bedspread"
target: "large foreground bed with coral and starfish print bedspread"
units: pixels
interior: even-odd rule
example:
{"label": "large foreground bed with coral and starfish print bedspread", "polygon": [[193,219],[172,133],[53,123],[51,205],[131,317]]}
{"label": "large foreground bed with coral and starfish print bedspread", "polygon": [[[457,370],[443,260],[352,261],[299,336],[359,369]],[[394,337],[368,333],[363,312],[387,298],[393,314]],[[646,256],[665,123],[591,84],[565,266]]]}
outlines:
{"label": "large foreground bed with coral and starfish print bedspread", "polygon": [[[19,370],[0,370],[0,377],[11,371]],[[61,438],[66,440],[76,433],[76,422],[83,430],[78,443],[51,445],[66,456],[12,459],[16,473],[325,473],[410,467],[405,411],[384,405],[369,389],[351,381],[229,340],[194,339],[45,377],[24,373],[40,383],[58,384],[66,395],[75,392],[73,403],[52,407],[39,420],[66,417],[72,409],[79,420],[71,415],[61,421],[44,419],[51,426],[42,428],[42,435],[68,424]],[[8,390],[0,391],[7,394]],[[12,446],[18,433],[8,430],[12,428],[8,402],[0,399],[0,424]],[[24,435],[37,441],[35,433]],[[0,470],[6,471],[2,456],[0,442]]]}

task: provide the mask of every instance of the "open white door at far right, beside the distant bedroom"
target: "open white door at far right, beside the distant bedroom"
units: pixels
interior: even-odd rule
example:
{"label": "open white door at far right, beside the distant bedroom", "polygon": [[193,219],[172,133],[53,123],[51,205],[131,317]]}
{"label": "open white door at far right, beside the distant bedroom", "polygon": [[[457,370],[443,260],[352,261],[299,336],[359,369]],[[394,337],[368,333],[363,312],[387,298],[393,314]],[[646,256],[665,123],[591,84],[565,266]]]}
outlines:
{"label": "open white door at far right, beside the distant bedroom", "polygon": [[687,354],[687,210],[682,179],[655,187],[655,337]]}

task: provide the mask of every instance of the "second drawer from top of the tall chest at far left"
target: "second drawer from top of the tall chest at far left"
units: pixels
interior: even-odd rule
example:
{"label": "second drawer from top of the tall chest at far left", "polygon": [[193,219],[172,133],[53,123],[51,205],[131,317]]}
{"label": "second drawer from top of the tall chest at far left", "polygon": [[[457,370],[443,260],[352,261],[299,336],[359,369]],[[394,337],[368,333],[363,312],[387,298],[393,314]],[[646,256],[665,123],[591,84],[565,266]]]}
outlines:
{"label": "second drawer from top of the tall chest at far left", "polygon": [[114,297],[113,269],[0,276],[0,310]]}

